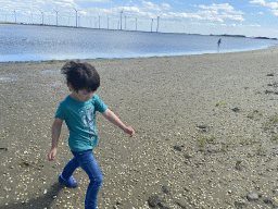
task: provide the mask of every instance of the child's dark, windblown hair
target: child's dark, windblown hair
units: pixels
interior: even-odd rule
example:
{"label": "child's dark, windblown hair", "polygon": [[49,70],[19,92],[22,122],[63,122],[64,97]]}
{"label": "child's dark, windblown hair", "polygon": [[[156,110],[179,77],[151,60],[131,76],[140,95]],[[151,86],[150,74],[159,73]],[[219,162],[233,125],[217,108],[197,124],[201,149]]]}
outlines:
{"label": "child's dark, windblown hair", "polygon": [[100,86],[100,76],[97,70],[87,62],[67,62],[61,72],[66,76],[66,84],[72,85],[76,91],[80,89],[96,91]]}

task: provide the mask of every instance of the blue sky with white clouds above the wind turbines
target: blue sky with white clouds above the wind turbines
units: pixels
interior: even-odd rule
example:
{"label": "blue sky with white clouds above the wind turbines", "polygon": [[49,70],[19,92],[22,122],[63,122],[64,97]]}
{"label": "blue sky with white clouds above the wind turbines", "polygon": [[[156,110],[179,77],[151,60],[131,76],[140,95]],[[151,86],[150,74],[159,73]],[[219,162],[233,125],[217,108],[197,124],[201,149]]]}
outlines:
{"label": "blue sky with white clouds above the wind turbines", "polygon": [[[278,0],[0,0],[0,21],[278,38]],[[159,20],[157,20],[159,16]],[[159,28],[157,28],[159,23]]]}

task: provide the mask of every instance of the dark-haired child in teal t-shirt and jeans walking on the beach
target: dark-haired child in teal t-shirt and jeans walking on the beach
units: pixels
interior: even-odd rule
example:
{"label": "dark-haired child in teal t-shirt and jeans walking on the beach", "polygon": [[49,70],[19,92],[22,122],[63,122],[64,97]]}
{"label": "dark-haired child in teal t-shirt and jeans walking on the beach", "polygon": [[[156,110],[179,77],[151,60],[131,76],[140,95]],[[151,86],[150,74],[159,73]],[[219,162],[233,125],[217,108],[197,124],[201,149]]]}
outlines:
{"label": "dark-haired child in teal t-shirt and jeans walking on the beach", "polygon": [[70,131],[68,146],[73,152],[73,159],[65,165],[59,182],[70,187],[75,187],[78,181],[72,174],[80,167],[89,176],[90,183],[87,189],[85,208],[97,208],[97,196],[102,185],[101,170],[92,155],[92,149],[98,145],[99,137],[96,128],[96,111],[101,112],[110,122],[117,125],[125,133],[134,136],[135,131],[126,126],[96,95],[100,86],[100,76],[97,70],[89,63],[71,61],[62,67],[66,76],[66,83],[72,91],[59,106],[52,125],[52,147],[48,152],[50,161],[55,160],[58,142],[63,121]]}

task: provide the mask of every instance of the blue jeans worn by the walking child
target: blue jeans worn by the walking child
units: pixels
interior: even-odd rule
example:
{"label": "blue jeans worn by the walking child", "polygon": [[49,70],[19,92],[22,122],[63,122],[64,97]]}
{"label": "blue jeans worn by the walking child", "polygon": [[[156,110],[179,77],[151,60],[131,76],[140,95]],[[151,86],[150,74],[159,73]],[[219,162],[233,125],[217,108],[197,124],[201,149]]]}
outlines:
{"label": "blue jeans worn by the walking child", "polygon": [[74,158],[65,165],[62,173],[63,179],[68,180],[75,169],[81,167],[81,169],[88,174],[90,179],[90,184],[88,186],[85,199],[86,209],[97,208],[97,197],[103,182],[101,170],[91,151],[91,149],[79,152],[72,151]]}

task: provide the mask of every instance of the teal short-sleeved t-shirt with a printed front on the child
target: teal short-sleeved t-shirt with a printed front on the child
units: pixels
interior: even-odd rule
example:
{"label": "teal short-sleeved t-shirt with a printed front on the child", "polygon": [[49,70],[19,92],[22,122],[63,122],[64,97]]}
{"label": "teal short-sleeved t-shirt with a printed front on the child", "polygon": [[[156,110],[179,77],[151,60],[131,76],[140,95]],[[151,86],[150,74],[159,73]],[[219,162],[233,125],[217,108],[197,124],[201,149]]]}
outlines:
{"label": "teal short-sleeved t-shirt with a printed front on the child", "polygon": [[73,151],[93,149],[99,142],[96,111],[108,109],[98,95],[88,101],[77,101],[67,96],[59,106],[55,118],[64,120],[70,131],[68,146]]}

